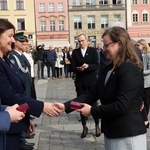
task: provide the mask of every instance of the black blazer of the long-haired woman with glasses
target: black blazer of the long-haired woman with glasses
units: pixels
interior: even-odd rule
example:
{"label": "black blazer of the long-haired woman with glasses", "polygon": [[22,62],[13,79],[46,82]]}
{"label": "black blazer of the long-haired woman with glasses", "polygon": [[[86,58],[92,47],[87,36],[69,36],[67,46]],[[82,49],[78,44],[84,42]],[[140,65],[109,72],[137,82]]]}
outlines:
{"label": "black blazer of the long-haired woman with glasses", "polygon": [[[74,99],[92,104],[100,99],[100,106],[93,106],[91,114],[101,118],[102,132],[107,138],[122,138],[146,133],[140,112],[143,93],[141,71],[131,62],[124,62],[114,69],[105,85],[107,66],[100,74],[97,87],[87,95]],[[65,103],[66,113],[71,112],[70,101]]]}

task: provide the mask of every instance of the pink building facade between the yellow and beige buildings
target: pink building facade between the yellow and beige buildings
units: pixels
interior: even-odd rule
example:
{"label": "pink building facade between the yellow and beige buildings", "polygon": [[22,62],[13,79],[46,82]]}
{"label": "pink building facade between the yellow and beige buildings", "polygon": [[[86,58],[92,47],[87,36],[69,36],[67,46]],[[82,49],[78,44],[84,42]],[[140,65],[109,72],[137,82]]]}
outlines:
{"label": "pink building facade between the yellow and beige buildings", "polygon": [[37,45],[69,46],[67,0],[35,0]]}

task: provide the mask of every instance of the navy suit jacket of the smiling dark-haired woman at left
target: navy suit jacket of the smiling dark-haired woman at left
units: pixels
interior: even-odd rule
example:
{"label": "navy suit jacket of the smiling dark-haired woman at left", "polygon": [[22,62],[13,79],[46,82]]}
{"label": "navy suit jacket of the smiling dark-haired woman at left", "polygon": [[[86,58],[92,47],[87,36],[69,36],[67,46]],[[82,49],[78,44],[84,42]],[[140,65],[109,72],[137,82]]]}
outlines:
{"label": "navy suit jacket of the smiling dark-haired woman at left", "polygon": [[0,97],[3,104],[28,103],[29,110],[19,123],[12,123],[9,133],[25,131],[29,126],[29,114],[39,117],[43,112],[43,102],[25,96],[25,83],[22,76],[15,70],[13,64],[4,56],[0,58]]}

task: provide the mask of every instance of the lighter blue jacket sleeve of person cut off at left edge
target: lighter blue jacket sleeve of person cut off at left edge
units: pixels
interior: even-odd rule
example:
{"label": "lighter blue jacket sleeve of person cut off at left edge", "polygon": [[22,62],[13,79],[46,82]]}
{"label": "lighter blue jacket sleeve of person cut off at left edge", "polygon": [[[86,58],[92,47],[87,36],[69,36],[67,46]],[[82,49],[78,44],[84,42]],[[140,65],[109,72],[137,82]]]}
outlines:
{"label": "lighter blue jacket sleeve of person cut off at left edge", "polygon": [[5,150],[6,148],[6,139],[5,139],[5,133],[10,128],[10,116],[7,111],[4,111],[6,109],[6,106],[1,105],[0,100],[0,150]]}

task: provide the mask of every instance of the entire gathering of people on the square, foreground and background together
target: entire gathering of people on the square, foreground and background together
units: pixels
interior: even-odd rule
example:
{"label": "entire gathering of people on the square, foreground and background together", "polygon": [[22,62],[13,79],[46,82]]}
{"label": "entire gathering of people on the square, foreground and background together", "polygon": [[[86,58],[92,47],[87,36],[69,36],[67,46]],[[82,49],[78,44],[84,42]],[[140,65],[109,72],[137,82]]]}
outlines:
{"label": "entire gathering of people on the square, foreground and background together", "polygon": [[[104,133],[106,150],[146,150],[146,128],[149,128],[150,47],[141,39],[134,45],[128,32],[118,26],[102,35],[103,45],[94,48],[85,33],[77,36],[78,44],[62,49],[46,50],[41,44],[34,49],[23,32],[0,19],[0,149],[32,150],[34,116],[42,112],[48,117],[64,111],[71,113],[72,100],[48,103],[37,100],[34,86],[35,67],[38,79],[73,77],[77,97],[82,103],[80,113],[83,131],[88,134],[86,120],[92,115],[95,136]],[[44,67],[47,67],[47,76]],[[100,104],[97,105],[97,101]],[[29,109],[16,108],[27,103]],[[101,119],[101,128],[99,126]],[[139,142],[140,141],[140,142]]]}

